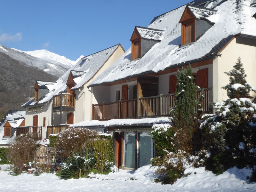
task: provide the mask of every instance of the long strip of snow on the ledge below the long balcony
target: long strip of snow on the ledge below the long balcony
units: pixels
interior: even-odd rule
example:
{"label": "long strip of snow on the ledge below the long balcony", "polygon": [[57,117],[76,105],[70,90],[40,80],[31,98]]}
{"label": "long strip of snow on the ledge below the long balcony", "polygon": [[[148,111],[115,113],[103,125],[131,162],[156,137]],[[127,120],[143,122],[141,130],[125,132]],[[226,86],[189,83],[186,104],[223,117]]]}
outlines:
{"label": "long strip of snow on the ledge below the long balcony", "polygon": [[114,125],[133,125],[133,124],[158,124],[168,123],[170,117],[155,117],[155,118],[141,118],[141,119],[110,119],[108,121],[82,121],[69,127],[92,127],[92,126],[114,126]]}

